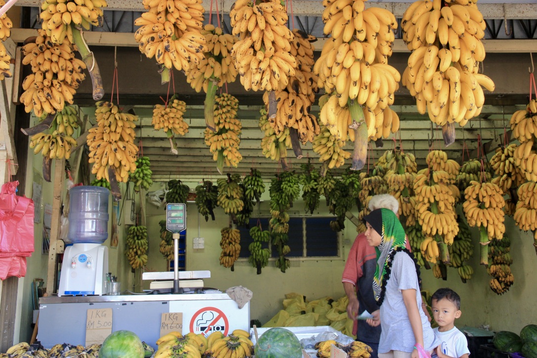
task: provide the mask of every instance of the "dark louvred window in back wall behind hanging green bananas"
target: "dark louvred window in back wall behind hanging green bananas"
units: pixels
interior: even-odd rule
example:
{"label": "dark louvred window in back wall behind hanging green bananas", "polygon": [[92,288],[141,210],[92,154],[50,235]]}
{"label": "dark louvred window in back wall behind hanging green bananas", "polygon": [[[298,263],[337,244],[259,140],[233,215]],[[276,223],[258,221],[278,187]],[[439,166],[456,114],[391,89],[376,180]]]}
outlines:
{"label": "dark louvred window in back wall behind hanging green bananas", "polygon": [[[288,258],[302,257],[337,257],[339,255],[338,233],[330,229],[330,221],[335,218],[330,217],[291,217],[289,218],[289,241],[287,245],[291,252]],[[250,218],[250,228],[261,224],[263,230],[269,230],[270,217]],[[246,259],[250,256],[248,246],[253,242],[250,236],[250,229],[238,228],[241,231],[241,255]],[[269,247],[273,258],[278,257],[278,252],[269,243],[264,243],[263,247]]]}

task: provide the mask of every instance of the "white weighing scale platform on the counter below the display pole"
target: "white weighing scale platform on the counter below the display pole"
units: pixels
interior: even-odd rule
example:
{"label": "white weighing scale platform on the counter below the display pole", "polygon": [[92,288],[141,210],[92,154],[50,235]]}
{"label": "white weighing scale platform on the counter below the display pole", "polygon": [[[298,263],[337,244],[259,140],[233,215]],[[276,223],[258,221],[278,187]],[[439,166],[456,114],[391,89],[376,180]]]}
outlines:
{"label": "white weighing scale platform on the counter below the display pole", "polygon": [[[171,293],[173,289],[174,272],[144,272],[142,280],[151,283],[151,290],[160,293]],[[179,271],[179,288],[181,289],[199,289],[204,287],[203,279],[209,279],[211,271]]]}

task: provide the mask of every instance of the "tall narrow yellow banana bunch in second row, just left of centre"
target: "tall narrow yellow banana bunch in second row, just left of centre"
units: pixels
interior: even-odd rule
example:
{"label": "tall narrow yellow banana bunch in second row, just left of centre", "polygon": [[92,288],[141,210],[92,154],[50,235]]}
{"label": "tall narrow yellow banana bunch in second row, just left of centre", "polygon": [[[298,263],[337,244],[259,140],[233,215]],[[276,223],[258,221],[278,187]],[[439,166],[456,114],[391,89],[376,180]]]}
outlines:
{"label": "tall narrow yellow banana bunch in second row, just left of centre", "polygon": [[241,122],[237,119],[238,100],[231,94],[217,96],[214,105],[215,130],[205,129],[205,144],[213,154],[216,168],[222,174],[224,164],[237,167],[242,160],[238,151],[241,144]]}

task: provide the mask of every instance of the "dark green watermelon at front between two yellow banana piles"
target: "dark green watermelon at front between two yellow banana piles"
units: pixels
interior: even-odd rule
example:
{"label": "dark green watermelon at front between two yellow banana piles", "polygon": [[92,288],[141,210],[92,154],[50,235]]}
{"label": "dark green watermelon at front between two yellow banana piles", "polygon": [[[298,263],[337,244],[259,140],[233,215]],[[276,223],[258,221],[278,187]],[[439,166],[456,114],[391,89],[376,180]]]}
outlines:
{"label": "dark green watermelon at front between two yellow banana piles", "polygon": [[296,335],[281,327],[267,330],[254,348],[256,358],[302,358],[302,347]]}

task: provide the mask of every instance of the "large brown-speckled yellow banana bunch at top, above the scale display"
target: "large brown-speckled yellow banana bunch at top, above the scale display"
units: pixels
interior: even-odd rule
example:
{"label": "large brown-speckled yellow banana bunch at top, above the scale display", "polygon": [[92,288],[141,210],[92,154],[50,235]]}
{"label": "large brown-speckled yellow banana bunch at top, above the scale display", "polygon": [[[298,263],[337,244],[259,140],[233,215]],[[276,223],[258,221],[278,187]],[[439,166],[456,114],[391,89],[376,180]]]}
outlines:
{"label": "large brown-speckled yellow banana bunch at top, above the scale display", "polygon": [[188,71],[205,58],[205,36],[201,34],[205,9],[200,0],[143,0],[140,26],[134,34],[140,52],[167,69]]}

